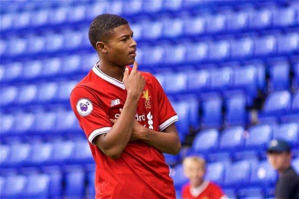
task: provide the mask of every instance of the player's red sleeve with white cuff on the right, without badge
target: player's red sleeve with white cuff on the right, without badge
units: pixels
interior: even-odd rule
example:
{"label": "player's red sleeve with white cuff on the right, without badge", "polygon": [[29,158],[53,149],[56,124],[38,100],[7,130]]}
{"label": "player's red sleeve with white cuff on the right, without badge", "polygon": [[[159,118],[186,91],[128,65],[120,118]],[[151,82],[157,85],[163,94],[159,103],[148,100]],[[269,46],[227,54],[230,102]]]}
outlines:
{"label": "player's red sleeve with white cuff on the right, without badge", "polygon": [[158,96],[158,110],[159,110],[159,131],[163,131],[170,124],[178,120],[177,114],[174,111],[170,101],[163,91],[160,83],[153,77]]}

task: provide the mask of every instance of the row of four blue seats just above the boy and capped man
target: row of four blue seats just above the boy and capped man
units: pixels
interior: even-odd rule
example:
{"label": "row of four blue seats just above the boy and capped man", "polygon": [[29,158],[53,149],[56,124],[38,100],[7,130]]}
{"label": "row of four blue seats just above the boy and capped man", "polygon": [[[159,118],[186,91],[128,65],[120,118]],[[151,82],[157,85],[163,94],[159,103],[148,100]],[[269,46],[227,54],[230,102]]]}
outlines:
{"label": "row of four blue seats just above the boy and capped man", "polygon": [[224,129],[221,133],[217,129],[202,130],[194,137],[189,153],[232,152],[240,149],[264,150],[273,138],[286,139],[292,145],[298,146],[298,124],[298,122],[281,125],[260,124],[251,126],[247,130],[242,126],[234,126]]}

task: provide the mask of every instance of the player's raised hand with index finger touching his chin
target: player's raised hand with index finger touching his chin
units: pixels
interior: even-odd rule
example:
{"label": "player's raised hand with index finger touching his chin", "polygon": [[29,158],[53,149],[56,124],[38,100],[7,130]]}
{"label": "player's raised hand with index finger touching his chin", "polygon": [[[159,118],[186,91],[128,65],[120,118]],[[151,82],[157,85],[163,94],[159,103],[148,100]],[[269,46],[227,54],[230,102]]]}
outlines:
{"label": "player's raised hand with index finger touching his chin", "polygon": [[144,90],[146,81],[142,77],[141,73],[137,71],[138,64],[135,61],[131,74],[129,75],[129,69],[126,68],[124,72],[123,82],[125,84],[128,96],[136,97],[139,99]]}

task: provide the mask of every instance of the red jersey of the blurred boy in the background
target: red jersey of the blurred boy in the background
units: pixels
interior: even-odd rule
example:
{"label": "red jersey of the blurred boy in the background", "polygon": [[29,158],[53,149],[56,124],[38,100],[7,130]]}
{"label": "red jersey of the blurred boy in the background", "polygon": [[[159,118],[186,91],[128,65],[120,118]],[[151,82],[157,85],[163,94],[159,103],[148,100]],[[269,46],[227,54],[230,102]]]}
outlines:
{"label": "red jersey of the blurred boy in the background", "polygon": [[182,188],[183,199],[224,199],[227,198],[216,184],[204,181],[197,189],[190,189],[190,184]]}

